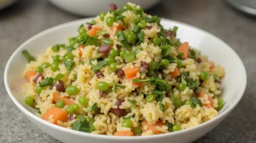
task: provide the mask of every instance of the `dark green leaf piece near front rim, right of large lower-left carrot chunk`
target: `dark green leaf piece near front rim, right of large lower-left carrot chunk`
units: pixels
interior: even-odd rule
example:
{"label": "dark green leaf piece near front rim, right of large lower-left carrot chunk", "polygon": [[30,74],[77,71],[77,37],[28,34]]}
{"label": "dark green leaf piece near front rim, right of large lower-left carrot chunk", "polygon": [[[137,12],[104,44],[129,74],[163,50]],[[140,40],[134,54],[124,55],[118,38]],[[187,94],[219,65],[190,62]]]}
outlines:
{"label": "dark green leaf piece near front rim, right of large lower-left carrot chunk", "polygon": [[95,130],[93,122],[84,116],[79,116],[78,120],[71,124],[71,128],[73,130],[82,131],[86,133],[91,133]]}

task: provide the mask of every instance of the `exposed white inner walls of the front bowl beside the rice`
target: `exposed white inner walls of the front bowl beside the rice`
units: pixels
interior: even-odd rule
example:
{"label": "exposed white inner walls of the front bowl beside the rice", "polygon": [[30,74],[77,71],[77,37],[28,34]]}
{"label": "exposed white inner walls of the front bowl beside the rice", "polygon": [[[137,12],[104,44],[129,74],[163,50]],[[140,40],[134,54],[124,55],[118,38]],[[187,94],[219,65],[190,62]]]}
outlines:
{"label": "exposed white inner walls of the front bowl beside the rice", "polygon": [[[27,40],[13,53],[6,65],[4,78],[6,89],[9,94],[11,93],[10,97],[16,104],[18,104],[17,100],[30,112],[36,112],[35,109],[24,103],[22,84],[26,81],[22,73],[27,61],[21,51],[27,49],[37,57],[39,53],[45,52],[48,46],[67,43],[67,37],[76,36],[79,25],[90,20],[90,18],[77,20],[43,31]],[[221,64],[225,68],[226,75],[222,80],[225,105],[219,113],[227,110],[232,104],[237,104],[243,95],[247,81],[244,65],[238,55],[223,41],[203,30],[166,19],[162,19],[161,23],[165,28],[178,26],[177,37],[182,42],[188,41],[191,46],[200,49],[202,54],[208,55],[209,60]]]}

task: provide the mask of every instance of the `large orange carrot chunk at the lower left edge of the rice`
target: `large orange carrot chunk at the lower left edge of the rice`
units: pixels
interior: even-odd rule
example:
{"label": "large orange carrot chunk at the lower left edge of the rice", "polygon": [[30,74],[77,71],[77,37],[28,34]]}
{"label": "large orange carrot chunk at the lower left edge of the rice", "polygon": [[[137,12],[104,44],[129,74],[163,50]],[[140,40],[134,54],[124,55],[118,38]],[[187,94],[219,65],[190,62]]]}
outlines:
{"label": "large orange carrot chunk at the lower left edge of the rice", "polygon": [[62,121],[62,122],[67,122],[68,121],[68,114],[66,111],[61,110],[60,108],[57,107],[51,107],[46,113],[43,115],[42,119],[48,121],[49,116],[53,115],[52,119],[53,124],[57,125],[57,121]]}

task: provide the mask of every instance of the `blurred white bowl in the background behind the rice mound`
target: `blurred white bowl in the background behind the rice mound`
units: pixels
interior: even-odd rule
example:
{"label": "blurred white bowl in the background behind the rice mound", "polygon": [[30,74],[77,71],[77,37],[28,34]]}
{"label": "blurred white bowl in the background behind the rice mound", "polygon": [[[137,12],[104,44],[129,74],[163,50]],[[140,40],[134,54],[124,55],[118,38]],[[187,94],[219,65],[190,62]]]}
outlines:
{"label": "blurred white bowl in the background behind the rice mound", "polygon": [[151,8],[160,0],[49,0],[53,5],[67,12],[81,16],[96,16],[109,11],[109,4],[123,7],[127,2],[140,5],[143,10]]}

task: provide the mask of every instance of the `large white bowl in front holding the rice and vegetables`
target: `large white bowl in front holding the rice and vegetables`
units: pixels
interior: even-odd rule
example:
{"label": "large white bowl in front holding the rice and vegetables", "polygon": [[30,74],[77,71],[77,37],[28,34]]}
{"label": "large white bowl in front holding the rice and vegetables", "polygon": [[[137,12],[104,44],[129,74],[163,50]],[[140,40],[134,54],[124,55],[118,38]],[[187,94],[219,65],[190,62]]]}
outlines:
{"label": "large white bowl in front holding the rice and vegetables", "polygon": [[39,33],[23,43],[7,62],[4,72],[4,83],[9,96],[30,121],[50,136],[64,143],[188,143],[198,139],[217,126],[242,98],[247,82],[246,70],[241,59],[231,47],[219,38],[201,29],[181,22],[162,19],[161,23],[165,28],[179,27],[177,36],[181,41],[188,41],[191,46],[199,48],[203,54],[208,55],[210,60],[224,66],[226,75],[222,80],[222,88],[225,105],[217,117],[198,126],[177,132],[134,137],[89,134],[46,122],[33,114],[36,112],[35,109],[24,103],[21,85],[26,82],[22,72],[27,62],[22,56],[21,51],[27,49],[32,55],[36,56],[44,52],[50,45],[66,43],[67,37],[77,34],[77,27],[81,23],[91,20],[91,18],[76,20]]}

